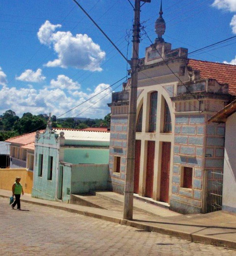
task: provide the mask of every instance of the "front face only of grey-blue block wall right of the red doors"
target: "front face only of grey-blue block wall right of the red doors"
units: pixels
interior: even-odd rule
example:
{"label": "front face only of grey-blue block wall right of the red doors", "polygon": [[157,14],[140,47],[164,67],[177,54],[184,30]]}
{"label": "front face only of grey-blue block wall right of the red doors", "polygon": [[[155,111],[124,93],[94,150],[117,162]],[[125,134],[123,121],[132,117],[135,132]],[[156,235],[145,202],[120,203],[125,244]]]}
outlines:
{"label": "front face only of grey-blue block wall right of the red doors", "polygon": [[[170,207],[182,213],[200,212],[204,168],[204,114],[175,117],[173,178]],[[182,166],[192,168],[192,189],[181,187]]]}

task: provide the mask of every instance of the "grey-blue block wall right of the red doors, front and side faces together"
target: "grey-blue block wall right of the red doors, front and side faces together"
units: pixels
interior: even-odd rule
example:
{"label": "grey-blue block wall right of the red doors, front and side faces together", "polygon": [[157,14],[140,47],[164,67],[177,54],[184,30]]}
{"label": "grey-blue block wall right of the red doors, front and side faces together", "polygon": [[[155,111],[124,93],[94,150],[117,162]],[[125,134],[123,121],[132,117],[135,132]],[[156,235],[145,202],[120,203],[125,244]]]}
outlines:
{"label": "grey-blue block wall right of the red doors, front and side faces together", "polygon": [[[175,142],[170,208],[192,214],[203,212],[204,171],[223,171],[224,125],[207,124],[207,114],[175,117]],[[192,168],[192,188],[181,187],[183,166]]]}

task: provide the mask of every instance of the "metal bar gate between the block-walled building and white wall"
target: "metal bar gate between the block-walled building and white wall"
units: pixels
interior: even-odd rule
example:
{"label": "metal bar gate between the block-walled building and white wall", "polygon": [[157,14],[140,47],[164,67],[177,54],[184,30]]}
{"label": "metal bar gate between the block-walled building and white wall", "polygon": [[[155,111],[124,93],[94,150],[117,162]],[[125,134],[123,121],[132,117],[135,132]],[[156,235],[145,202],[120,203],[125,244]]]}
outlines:
{"label": "metal bar gate between the block-walled building and white wall", "polygon": [[222,209],[223,173],[209,171],[207,182],[207,213]]}

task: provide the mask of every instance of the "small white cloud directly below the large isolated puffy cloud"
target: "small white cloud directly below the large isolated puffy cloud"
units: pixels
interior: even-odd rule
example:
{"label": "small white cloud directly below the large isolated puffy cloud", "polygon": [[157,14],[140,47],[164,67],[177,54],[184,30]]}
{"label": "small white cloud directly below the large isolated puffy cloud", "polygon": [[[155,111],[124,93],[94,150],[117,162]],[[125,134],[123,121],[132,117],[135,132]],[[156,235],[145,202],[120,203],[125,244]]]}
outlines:
{"label": "small white cloud directly below the large isolated puffy cloud", "polygon": [[50,82],[52,88],[66,89],[68,91],[79,90],[80,85],[78,82],[73,82],[73,80],[65,75],[58,75],[57,80],[52,79]]}

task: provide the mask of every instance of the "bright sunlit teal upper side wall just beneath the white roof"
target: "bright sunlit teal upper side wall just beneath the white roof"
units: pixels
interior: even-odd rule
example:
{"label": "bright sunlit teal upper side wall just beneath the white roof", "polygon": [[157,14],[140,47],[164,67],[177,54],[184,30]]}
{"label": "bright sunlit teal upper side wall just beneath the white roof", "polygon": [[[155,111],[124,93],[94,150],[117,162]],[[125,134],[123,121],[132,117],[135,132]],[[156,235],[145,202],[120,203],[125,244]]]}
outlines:
{"label": "bright sunlit teal upper side wall just beneath the white roof", "polygon": [[63,148],[64,162],[73,164],[108,164],[109,148]]}

